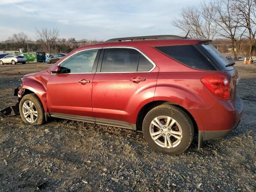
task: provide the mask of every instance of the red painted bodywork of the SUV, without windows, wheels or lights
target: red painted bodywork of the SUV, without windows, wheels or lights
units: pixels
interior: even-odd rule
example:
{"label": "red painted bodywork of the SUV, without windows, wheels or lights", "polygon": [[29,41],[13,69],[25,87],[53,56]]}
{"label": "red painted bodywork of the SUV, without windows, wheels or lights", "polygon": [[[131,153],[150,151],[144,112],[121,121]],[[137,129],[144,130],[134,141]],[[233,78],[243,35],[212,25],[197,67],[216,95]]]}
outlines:
{"label": "red painted bodywork of the SUV, without windows, wheels or lights", "polygon": [[[90,73],[50,74],[45,72],[22,78],[24,89],[35,92],[42,101],[45,112],[90,116],[136,123],[140,109],[153,101],[168,101],[185,108],[194,118],[199,130],[230,130],[238,121],[234,106],[236,89],[231,100],[222,101],[214,96],[200,81],[204,76],[224,74],[232,80],[236,70],[204,71],[190,68],[162,54],[154,46],[198,44],[201,40],[148,40],[113,42],[80,47],[54,64],[58,65],[71,54],[88,49],[109,46],[135,47],[144,52],[156,68],[148,73]],[[140,76],[146,81],[134,83],[131,78]],[[90,83],[81,85],[81,79]]]}

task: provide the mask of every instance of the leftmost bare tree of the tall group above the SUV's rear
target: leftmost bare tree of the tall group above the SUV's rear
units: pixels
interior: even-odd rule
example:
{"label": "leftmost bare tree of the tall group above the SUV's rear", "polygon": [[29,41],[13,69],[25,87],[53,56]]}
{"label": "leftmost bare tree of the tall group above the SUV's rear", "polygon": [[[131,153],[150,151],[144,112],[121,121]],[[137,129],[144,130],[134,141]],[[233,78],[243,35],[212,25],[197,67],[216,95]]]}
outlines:
{"label": "leftmost bare tree of the tall group above the SUV's rear", "polygon": [[190,38],[213,39],[216,34],[216,26],[212,20],[214,4],[215,0],[208,4],[203,2],[199,6],[185,7],[179,14],[179,18],[172,20],[172,25],[182,30],[182,34],[189,31]]}

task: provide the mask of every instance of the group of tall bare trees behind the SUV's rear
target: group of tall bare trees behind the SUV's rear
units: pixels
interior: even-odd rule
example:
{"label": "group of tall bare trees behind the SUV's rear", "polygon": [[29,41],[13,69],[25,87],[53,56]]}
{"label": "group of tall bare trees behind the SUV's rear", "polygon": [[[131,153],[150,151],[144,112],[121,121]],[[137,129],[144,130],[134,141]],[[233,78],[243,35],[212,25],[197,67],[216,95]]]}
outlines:
{"label": "group of tall bare trees behind the SUV's rear", "polygon": [[256,0],[210,0],[186,6],[172,25],[190,38],[228,40],[233,58],[256,51]]}

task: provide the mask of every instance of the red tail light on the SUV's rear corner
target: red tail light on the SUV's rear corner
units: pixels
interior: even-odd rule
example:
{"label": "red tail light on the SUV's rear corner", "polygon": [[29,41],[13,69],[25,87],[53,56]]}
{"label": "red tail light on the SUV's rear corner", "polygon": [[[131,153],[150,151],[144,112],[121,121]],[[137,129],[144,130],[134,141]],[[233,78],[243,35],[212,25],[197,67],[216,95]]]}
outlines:
{"label": "red tail light on the SUV's rear corner", "polygon": [[230,99],[230,82],[225,75],[210,75],[201,78],[201,82],[221,100]]}

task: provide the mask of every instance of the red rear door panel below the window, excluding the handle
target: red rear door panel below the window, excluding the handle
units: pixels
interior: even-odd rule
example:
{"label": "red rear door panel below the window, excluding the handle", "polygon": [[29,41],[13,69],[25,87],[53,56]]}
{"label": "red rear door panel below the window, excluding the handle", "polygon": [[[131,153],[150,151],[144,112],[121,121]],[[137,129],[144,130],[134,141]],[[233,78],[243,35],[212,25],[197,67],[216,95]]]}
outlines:
{"label": "red rear door panel below the window, excluding the handle", "polygon": [[[146,81],[130,81],[136,76]],[[154,99],[157,76],[158,67],[150,73],[96,73],[92,89],[95,118],[136,124],[140,108]]]}

